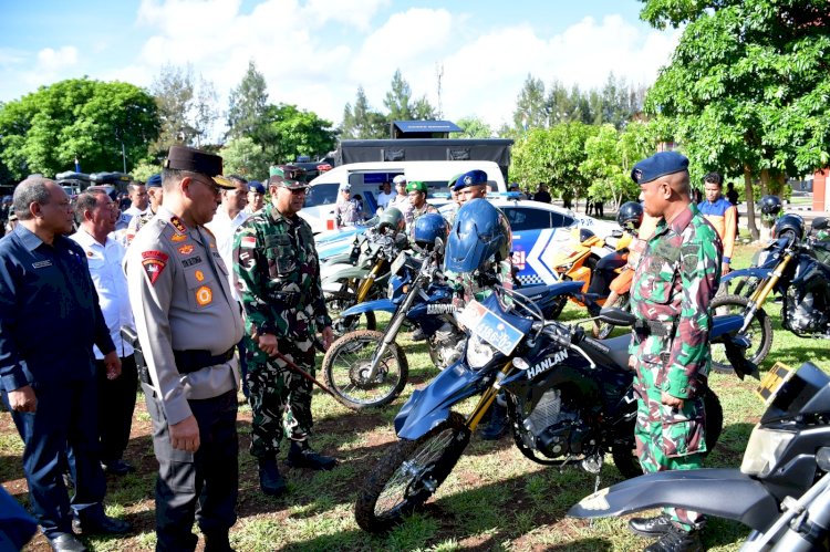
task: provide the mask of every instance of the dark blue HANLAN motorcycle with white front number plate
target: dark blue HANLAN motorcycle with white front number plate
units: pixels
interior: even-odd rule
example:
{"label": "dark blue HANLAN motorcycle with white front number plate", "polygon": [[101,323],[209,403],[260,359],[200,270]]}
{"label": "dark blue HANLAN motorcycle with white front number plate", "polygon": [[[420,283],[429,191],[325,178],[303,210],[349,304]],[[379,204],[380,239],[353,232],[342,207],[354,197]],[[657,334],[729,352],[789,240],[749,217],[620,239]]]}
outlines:
{"label": "dark blue HANLAN motorcycle with white front number plate", "polygon": [[[450,232],[445,273],[459,267],[477,271],[490,262],[479,256],[476,267],[450,256],[458,250],[455,238],[456,232]],[[468,251],[501,249],[494,233],[485,232],[480,241],[480,247],[467,243]],[[459,314],[469,332],[463,357],[416,389],[395,417],[400,440],[375,465],[357,494],[355,519],[365,531],[391,529],[435,493],[501,390],[515,444],[528,459],[547,466],[578,465],[599,478],[610,452],[625,477],[642,473],[634,456],[636,397],[627,367],[630,337],[594,340],[578,325],[546,320],[520,293],[498,283],[490,289],[486,299],[469,301]],[[619,309],[603,312],[603,322],[614,325],[635,320]],[[712,335],[729,344],[736,373],[743,376],[754,366],[745,363],[745,344],[733,335],[740,324],[739,316],[716,317]],[[476,396],[469,414],[454,410]],[[714,392],[707,390],[704,403],[710,450],[720,434],[723,413]]]}

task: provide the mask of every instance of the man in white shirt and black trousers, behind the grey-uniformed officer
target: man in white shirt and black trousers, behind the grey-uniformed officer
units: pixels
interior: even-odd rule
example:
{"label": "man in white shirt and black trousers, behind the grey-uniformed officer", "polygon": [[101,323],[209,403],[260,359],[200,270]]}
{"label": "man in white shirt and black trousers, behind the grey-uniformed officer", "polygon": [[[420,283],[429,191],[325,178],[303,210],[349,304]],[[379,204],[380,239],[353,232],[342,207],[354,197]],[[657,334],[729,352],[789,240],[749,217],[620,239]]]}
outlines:
{"label": "man in white shirt and black trousers, behind the grey-uniformed officer", "polygon": [[124,247],[110,236],[115,228],[118,208],[104,190],[87,190],[77,196],[75,217],[81,228],[70,238],[86,253],[98,304],[121,358],[121,376],[110,379],[104,355],[98,347],[94,348],[98,382],[101,464],[107,472],[124,476],[135,471],[135,468],[123,460],[123,456],[129,442],[138,371],[133,346],[121,336],[122,326],[135,329],[135,322],[127,296],[127,280],[122,268]]}

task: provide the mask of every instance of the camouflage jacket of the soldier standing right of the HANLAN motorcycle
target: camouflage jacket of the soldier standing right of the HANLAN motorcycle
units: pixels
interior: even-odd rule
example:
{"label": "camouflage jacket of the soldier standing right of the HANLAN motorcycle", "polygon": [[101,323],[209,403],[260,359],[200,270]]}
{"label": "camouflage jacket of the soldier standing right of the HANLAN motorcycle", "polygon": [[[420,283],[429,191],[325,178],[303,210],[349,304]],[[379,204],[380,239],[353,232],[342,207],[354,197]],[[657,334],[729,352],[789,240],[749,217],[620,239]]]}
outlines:
{"label": "camouflage jacket of the soldier standing right of the HANLAN motorcycle", "polygon": [[660,222],[634,272],[635,316],[675,330],[668,336],[634,332],[629,353],[637,364],[663,364],[654,385],[673,397],[695,398],[708,376],[708,305],[720,281],[722,257],[717,232],[689,205],[671,225]]}

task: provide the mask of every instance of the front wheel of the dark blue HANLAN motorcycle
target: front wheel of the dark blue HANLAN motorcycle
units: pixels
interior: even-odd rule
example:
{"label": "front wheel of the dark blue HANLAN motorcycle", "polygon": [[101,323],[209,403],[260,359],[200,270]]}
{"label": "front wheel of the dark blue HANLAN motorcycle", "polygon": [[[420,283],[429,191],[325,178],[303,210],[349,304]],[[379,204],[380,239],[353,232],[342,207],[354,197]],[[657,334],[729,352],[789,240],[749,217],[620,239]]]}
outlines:
{"label": "front wheel of the dark blue HANLAN motorcycle", "polygon": [[401,440],[374,467],[357,494],[354,518],[364,531],[388,531],[440,487],[469,442],[464,417],[450,413],[428,434]]}

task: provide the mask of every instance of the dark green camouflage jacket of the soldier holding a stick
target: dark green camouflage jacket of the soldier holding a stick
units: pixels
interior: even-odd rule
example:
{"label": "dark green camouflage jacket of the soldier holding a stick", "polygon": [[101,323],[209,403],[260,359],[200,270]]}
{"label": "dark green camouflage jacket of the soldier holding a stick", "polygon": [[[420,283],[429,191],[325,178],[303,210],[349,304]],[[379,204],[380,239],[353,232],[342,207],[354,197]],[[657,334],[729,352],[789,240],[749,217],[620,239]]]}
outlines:
{"label": "dark green camouflage jacket of the soldier holding a stick", "polygon": [[[303,219],[267,205],[237,229],[234,259],[248,336],[256,331],[307,340],[331,325],[314,236]],[[262,356],[253,362],[266,362],[264,353],[253,351]]]}

